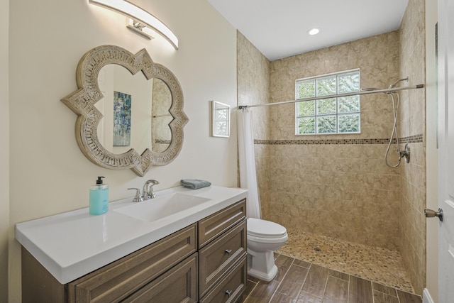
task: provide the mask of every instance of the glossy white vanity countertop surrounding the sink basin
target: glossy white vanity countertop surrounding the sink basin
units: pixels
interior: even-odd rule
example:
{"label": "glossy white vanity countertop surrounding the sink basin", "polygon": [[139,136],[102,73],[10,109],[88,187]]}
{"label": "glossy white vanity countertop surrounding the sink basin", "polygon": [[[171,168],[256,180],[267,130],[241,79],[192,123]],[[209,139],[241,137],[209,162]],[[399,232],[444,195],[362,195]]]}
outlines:
{"label": "glossy white vanity countertop surrounding the sink basin", "polygon": [[131,197],[109,203],[109,211],[100,216],[90,215],[85,208],[16,224],[16,239],[58,282],[65,284],[244,199],[247,190],[174,187],[156,192],[156,197],[175,193],[207,200],[156,221],[143,221],[115,211],[153,203],[153,199],[133,203]]}

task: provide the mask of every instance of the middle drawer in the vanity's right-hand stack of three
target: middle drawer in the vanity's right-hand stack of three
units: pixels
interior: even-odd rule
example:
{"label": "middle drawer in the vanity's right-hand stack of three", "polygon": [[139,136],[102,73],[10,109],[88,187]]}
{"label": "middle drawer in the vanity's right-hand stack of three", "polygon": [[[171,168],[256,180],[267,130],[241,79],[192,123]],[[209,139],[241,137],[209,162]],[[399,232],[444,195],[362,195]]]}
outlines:
{"label": "middle drawer in the vanity's right-hand stack of three", "polygon": [[246,254],[246,221],[216,238],[199,251],[200,297]]}

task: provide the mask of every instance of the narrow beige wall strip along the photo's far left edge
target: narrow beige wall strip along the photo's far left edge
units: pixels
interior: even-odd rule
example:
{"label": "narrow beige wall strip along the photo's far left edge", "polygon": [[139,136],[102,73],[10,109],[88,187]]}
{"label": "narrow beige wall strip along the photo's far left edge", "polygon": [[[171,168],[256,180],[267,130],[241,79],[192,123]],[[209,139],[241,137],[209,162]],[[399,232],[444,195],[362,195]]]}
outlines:
{"label": "narrow beige wall strip along the photo's far left edge", "polygon": [[9,0],[0,1],[0,302],[8,302]]}

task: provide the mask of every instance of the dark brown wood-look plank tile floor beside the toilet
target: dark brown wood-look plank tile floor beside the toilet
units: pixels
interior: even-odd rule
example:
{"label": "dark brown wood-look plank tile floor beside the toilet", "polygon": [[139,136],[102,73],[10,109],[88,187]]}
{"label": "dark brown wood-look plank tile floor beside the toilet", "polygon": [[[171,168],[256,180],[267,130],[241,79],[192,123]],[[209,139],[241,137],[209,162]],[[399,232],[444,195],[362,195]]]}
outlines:
{"label": "dark brown wood-look plank tile floor beside the toilet", "polygon": [[416,294],[275,253],[277,276],[248,277],[240,303],[421,303]]}

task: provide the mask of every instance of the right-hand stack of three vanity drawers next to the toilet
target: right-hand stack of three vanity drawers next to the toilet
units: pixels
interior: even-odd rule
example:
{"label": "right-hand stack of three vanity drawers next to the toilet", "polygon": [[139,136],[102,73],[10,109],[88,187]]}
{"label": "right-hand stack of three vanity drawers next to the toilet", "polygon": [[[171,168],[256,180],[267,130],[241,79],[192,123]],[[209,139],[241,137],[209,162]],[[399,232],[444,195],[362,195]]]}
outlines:
{"label": "right-hand stack of three vanity drawers next to the toilet", "polygon": [[243,293],[246,236],[245,200],[199,221],[200,302],[236,302]]}

